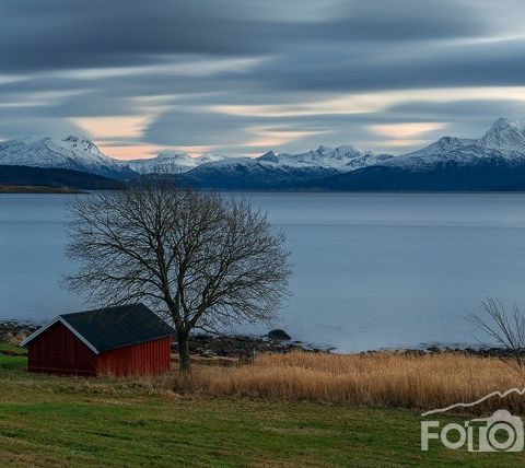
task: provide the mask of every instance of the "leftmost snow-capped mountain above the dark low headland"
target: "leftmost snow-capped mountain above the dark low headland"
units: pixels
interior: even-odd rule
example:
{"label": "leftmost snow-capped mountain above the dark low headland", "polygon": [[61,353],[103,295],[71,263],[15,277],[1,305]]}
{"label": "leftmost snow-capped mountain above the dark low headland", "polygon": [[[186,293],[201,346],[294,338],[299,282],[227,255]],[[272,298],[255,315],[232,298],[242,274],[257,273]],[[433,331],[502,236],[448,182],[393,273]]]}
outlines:
{"label": "leftmost snow-capped mountain above the dark low headland", "polygon": [[73,169],[109,177],[130,173],[127,164],[106,156],[95,143],[77,136],[61,140],[24,138],[0,141],[0,165]]}

